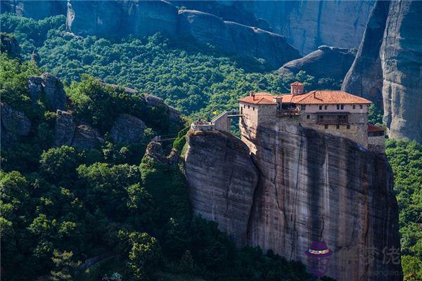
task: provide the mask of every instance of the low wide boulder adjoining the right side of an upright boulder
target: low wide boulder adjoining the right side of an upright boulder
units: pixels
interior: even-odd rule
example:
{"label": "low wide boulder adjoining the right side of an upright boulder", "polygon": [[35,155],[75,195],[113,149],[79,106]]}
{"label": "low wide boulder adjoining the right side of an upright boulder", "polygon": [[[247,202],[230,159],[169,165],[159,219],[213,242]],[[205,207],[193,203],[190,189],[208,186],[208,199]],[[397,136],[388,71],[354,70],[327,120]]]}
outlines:
{"label": "low wide boulder adjoining the right side of an upright boulder", "polygon": [[98,148],[104,143],[104,139],[96,129],[88,124],[82,124],[76,127],[73,136],[72,146],[79,150],[90,150]]}

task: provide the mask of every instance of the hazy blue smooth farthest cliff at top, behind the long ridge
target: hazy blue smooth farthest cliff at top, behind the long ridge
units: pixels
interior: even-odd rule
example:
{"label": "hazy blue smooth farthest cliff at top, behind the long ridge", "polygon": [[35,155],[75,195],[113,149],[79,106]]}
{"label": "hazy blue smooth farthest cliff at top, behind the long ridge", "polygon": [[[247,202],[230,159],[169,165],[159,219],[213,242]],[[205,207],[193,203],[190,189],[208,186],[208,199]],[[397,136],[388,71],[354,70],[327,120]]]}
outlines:
{"label": "hazy blue smooth farthest cliff at top, behind the long ridge", "polygon": [[171,1],[286,37],[306,55],[320,45],[357,48],[374,1]]}

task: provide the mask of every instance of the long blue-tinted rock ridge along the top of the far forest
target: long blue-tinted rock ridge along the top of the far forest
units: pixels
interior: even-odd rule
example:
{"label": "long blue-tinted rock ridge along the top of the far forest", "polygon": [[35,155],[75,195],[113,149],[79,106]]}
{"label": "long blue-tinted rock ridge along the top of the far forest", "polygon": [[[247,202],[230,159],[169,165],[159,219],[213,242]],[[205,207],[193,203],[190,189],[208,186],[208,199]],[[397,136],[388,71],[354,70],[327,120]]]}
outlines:
{"label": "long blue-tinted rock ridge along the top of the far forest", "polygon": [[144,37],[156,32],[187,36],[227,53],[264,58],[272,67],[300,57],[279,34],[226,22],[209,13],[178,11],[166,1],[70,1],[66,25],[75,34],[98,37]]}

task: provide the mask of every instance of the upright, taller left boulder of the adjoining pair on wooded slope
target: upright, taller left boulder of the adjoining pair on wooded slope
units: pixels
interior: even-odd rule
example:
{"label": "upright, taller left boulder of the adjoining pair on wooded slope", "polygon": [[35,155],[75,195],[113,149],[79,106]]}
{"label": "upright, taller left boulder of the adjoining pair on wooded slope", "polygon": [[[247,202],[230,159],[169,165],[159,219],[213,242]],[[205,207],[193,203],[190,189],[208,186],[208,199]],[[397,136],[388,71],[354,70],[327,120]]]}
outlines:
{"label": "upright, taller left boulder of the adjoining pair on wooded slope", "polygon": [[70,112],[57,110],[56,126],[54,127],[54,145],[71,146],[75,134],[76,124]]}

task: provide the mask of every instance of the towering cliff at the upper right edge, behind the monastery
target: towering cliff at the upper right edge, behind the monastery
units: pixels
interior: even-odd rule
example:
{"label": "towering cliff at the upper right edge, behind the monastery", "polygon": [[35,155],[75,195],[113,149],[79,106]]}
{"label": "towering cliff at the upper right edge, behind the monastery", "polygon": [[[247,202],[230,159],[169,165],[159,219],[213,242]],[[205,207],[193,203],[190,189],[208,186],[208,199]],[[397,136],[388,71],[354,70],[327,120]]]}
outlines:
{"label": "towering cliff at the upper right edge, behind the monastery", "polygon": [[392,138],[422,142],[422,3],[379,1],[342,89],[378,101]]}

